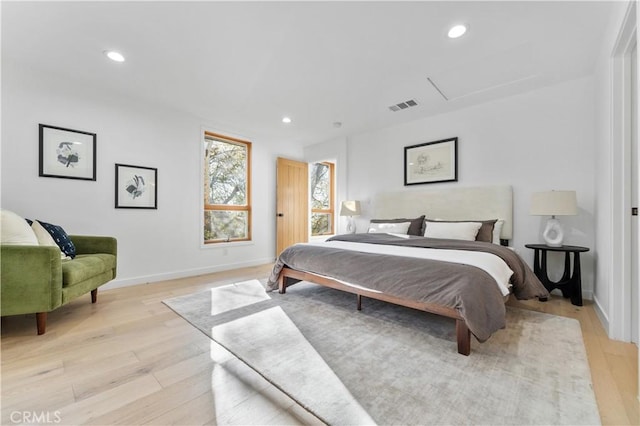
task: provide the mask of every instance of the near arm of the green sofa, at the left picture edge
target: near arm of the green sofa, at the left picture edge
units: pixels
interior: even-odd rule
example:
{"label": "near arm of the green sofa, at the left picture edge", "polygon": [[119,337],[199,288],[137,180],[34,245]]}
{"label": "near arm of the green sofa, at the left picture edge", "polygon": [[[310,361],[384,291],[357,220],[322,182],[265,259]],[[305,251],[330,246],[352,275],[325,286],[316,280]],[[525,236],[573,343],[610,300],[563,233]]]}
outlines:
{"label": "near arm of the green sofa, at the left picture edge", "polygon": [[62,305],[60,249],[0,246],[2,315],[49,312]]}

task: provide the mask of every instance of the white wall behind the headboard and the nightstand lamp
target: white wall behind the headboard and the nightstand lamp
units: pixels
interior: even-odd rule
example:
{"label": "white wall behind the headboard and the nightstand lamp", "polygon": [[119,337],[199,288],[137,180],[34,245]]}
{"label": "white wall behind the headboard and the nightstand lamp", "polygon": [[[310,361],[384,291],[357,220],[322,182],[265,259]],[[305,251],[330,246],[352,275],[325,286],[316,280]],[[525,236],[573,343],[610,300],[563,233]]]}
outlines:
{"label": "white wall behind the headboard and the nightstand lamp", "polygon": [[[531,193],[577,191],[579,215],[560,217],[565,242],[591,248],[581,255],[583,294],[594,288],[594,84],[583,78],[348,139],[348,197],[370,200],[381,191],[419,191],[433,185],[510,184],[514,190],[511,245],[532,264],[524,244],[541,242],[545,217],[529,215]],[[404,147],[457,136],[458,181],[403,186]],[[365,204],[366,206],[366,204]],[[428,212],[425,212],[428,215]],[[359,218],[359,229],[369,217]],[[550,256],[551,257],[551,256]],[[561,256],[550,265],[562,272]]]}

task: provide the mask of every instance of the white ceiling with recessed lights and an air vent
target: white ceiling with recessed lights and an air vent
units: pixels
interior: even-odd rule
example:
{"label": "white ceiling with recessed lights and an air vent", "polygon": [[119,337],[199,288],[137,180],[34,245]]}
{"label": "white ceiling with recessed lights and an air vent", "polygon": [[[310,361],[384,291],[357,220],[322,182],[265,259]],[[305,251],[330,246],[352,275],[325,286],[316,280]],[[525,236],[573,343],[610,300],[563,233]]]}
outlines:
{"label": "white ceiling with recessed lights and an air vent", "polygon": [[[589,75],[611,8],[607,1],[4,1],[2,60],[251,138],[306,145]],[[470,26],[467,35],[448,39],[460,22]],[[126,62],[109,61],[106,49]],[[409,99],[418,106],[388,109]],[[291,124],[281,122],[285,115]]]}

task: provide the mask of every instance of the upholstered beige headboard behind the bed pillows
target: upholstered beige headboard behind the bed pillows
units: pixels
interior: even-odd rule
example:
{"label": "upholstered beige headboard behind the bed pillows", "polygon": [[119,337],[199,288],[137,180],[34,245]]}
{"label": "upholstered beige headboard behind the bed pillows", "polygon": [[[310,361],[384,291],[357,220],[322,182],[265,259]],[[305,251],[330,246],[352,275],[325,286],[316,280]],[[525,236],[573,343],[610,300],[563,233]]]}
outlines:
{"label": "upholstered beige headboard behind the bed pillows", "polygon": [[513,238],[513,190],[509,185],[447,187],[377,194],[373,199],[374,218],[487,220],[503,219],[500,238]]}

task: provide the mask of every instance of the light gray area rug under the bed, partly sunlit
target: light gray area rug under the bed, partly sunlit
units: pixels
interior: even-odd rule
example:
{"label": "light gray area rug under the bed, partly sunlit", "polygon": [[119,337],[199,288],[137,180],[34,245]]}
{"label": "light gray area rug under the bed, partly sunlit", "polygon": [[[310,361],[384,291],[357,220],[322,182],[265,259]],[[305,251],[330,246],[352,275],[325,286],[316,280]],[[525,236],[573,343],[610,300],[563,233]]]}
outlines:
{"label": "light gray area rug under the bed, partly sunlit", "polygon": [[305,282],[164,303],[328,424],[600,424],[573,319],[508,307],[466,357],[451,319]]}

